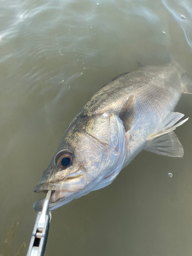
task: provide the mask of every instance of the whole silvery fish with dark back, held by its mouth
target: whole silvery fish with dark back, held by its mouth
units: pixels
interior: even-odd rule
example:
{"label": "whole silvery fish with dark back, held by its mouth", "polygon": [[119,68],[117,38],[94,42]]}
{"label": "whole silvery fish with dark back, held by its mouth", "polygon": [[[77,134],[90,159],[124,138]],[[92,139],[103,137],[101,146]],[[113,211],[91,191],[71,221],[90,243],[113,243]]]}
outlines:
{"label": "whole silvery fish with dark back, held by its mouth", "polygon": [[[188,120],[174,112],[182,93],[192,94],[192,82],[175,61],[110,80],[69,124],[34,191],[52,190],[53,210],[111,184],[142,150],[182,157],[174,133]],[[44,201],[34,209],[41,210]]]}

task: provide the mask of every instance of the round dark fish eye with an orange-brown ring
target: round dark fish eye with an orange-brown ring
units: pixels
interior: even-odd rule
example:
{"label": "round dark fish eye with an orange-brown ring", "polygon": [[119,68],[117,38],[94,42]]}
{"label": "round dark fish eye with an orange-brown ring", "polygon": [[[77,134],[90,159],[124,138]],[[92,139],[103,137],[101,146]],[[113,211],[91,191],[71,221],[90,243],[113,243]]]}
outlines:
{"label": "round dark fish eye with an orange-brown ring", "polygon": [[58,167],[65,169],[72,165],[73,163],[73,154],[69,151],[60,151],[55,156],[55,165]]}

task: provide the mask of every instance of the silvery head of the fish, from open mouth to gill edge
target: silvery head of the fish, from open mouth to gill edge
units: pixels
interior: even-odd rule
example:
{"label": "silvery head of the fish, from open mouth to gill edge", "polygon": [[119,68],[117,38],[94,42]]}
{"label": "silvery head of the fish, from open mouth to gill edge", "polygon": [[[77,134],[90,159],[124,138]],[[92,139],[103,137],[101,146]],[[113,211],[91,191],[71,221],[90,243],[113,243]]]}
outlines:
{"label": "silvery head of the fish, from open mouth to gill edge", "polygon": [[[119,173],[124,148],[124,126],[113,112],[76,118],[34,191],[53,191],[50,210],[86,195],[106,177]],[[41,210],[44,200],[35,202],[35,210]]]}

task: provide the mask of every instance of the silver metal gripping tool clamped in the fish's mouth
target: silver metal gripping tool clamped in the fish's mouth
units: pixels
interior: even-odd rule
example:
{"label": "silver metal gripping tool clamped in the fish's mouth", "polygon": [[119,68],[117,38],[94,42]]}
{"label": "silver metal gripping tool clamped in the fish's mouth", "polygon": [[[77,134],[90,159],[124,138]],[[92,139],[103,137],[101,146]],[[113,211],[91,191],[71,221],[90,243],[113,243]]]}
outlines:
{"label": "silver metal gripping tool clamped in the fish's mouth", "polygon": [[37,215],[27,256],[43,256],[45,253],[51,221],[51,211],[47,214],[51,192],[51,190],[48,191],[42,211]]}

